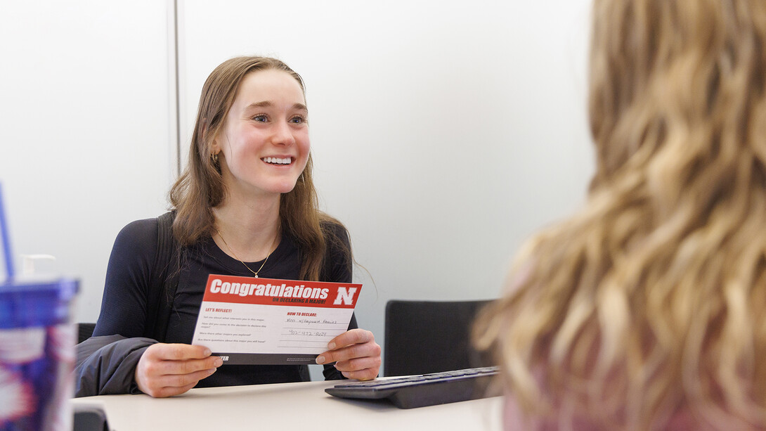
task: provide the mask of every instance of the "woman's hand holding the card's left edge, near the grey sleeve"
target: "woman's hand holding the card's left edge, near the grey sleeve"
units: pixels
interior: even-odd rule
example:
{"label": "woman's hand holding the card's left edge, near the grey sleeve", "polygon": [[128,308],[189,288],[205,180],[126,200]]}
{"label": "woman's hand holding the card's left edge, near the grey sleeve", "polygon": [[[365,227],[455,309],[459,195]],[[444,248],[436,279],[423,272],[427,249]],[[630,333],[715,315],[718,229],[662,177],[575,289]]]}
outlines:
{"label": "woman's hand holding the card's left edge, near the grey sleeve", "polygon": [[208,347],[152,344],[136,366],[136,384],[141,392],[155,397],[185,393],[224,363],[210,354]]}

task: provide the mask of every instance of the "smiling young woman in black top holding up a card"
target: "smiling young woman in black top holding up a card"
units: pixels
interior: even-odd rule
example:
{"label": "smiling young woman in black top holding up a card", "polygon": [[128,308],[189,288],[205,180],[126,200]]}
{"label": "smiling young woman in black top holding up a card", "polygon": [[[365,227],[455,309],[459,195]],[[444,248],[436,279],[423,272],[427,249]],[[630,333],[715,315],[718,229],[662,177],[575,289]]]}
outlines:
{"label": "smiling young woman in black top holding up a card", "polygon": [[[312,181],[308,108],[300,75],[273,58],[239,57],[215,68],[202,88],[189,161],[170,191],[172,247],[180,265],[166,331],[151,311],[164,278],[159,219],[117,236],[94,337],[78,346],[77,396],[308,380],[305,365],[228,365],[192,346],[209,274],[352,281],[349,235],[320,212]],[[165,272],[162,272],[164,275]],[[159,285],[156,281],[159,279]],[[317,358],[327,379],[375,378],[381,349],[356,327]],[[332,364],[335,362],[336,364]]]}

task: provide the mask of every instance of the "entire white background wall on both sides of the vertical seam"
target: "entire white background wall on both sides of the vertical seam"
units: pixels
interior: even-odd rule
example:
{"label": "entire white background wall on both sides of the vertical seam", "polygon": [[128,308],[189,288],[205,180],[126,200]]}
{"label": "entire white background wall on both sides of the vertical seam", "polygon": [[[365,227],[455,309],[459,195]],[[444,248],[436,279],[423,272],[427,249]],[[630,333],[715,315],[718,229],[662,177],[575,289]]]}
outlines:
{"label": "entire white background wall on both sides of the vertical seam", "polygon": [[[43,3],[15,8],[55,40],[0,18],[18,67],[0,71],[0,181],[18,252],[60,255],[93,320],[116,232],[162,212],[175,175],[165,3]],[[221,61],[302,74],[322,206],[367,269],[357,314],[382,345],[388,299],[495,298],[522,239],[581,202],[589,3],[180,0],[182,148]]]}

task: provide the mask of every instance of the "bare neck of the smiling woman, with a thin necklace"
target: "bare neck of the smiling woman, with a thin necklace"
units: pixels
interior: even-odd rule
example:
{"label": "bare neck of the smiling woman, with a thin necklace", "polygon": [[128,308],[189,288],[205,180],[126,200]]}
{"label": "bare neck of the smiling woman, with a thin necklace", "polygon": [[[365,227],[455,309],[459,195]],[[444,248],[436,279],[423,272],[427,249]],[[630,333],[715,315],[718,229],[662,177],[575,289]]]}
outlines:
{"label": "bare neck of the smiling woman, with a thin necklace", "polygon": [[280,199],[224,201],[213,209],[213,239],[227,255],[244,262],[267,257],[280,241]]}

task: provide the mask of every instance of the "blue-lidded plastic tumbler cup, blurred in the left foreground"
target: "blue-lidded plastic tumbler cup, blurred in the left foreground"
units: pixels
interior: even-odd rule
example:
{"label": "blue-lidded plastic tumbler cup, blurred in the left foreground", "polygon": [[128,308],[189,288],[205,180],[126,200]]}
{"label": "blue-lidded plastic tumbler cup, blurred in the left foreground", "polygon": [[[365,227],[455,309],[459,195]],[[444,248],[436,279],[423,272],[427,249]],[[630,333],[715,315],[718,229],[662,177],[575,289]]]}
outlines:
{"label": "blue-lidded plastic tumbler cup, blurred in the left foreground", "polygon": [[78,281],[0,284],[0,431],[68,430]]}

